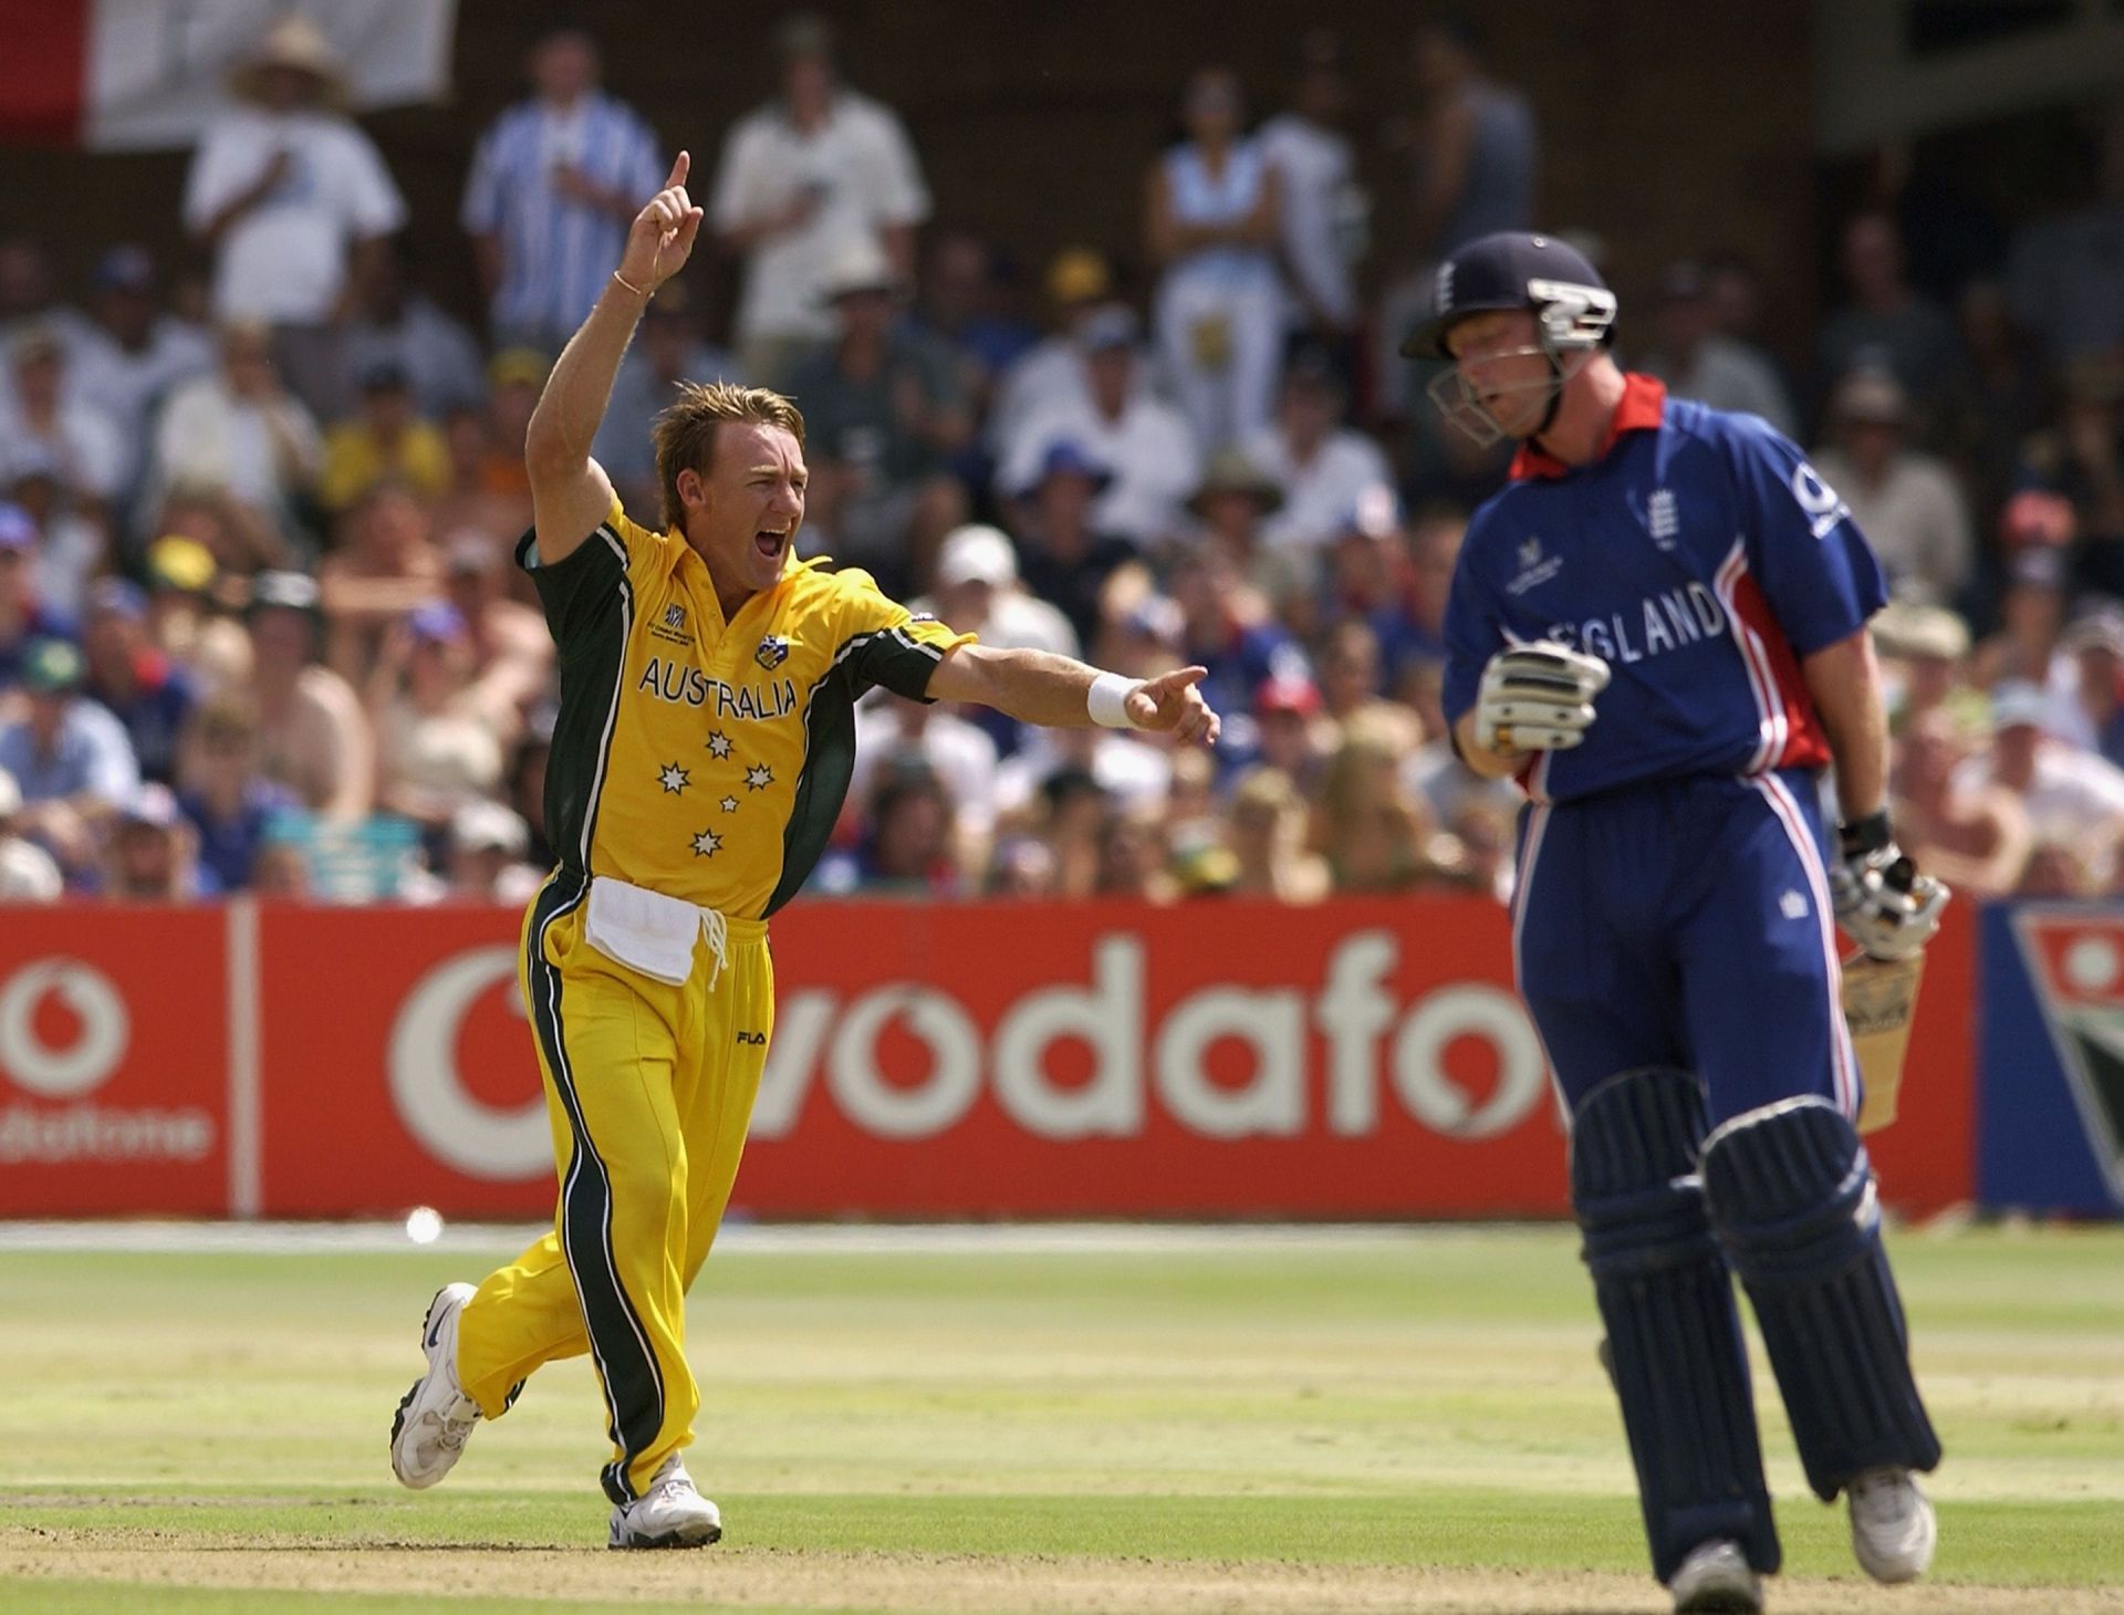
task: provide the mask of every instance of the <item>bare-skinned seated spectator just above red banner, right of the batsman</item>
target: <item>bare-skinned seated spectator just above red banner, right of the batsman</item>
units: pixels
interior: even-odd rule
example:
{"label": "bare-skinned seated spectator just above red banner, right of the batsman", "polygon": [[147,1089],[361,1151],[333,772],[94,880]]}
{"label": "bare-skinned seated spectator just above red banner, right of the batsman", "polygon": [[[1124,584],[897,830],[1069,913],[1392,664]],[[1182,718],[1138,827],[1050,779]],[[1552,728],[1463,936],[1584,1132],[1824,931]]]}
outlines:
{"label": "bare-skinned seated spectator just above red banner, right of the batsman", "polygon": [[1999,780],[1963,774],[1971,750],[1960,718],[1946,708],[1907,725],[1888,780],[1895,833],[1918,867],[1958,897],[2011,897],[2033,848],[2028,814]]}

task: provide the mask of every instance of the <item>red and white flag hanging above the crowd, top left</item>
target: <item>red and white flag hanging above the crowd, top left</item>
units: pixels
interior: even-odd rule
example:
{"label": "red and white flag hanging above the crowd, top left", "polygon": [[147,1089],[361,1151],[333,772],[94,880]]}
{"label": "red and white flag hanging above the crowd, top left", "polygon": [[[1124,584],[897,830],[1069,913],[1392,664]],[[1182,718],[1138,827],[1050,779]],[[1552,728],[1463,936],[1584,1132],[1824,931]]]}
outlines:
{"label": "red and white flag hanging above the crowd, top left", "polygon": [[291,11],[331,42],[357,110],[450,87],[457,0],[0,0],[0,142],[189,147]]}

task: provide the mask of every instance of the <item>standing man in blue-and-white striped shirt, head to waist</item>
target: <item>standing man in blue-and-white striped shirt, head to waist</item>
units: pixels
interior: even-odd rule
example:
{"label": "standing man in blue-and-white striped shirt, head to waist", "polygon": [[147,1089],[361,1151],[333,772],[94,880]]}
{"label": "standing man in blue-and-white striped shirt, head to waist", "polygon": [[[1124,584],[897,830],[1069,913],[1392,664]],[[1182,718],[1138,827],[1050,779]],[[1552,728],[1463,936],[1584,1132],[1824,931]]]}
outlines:
{"label": "standing man in blue-and-white striped shirt, head to waist", "polygon": [[620,264],[627,225],[669,157],[641,115],[597,81],[597,40],[554,28],[527,64],[535,94],[493,121],[472,155],[463,225],[495,340],[559,353]]}

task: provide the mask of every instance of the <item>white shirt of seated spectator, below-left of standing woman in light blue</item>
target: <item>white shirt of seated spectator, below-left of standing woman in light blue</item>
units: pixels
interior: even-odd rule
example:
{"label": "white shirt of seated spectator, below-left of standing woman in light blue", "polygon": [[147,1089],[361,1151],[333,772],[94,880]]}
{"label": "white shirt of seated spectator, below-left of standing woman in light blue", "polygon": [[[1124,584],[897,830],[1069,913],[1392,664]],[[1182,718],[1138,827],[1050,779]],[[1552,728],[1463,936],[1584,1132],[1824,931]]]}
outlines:
{"label": "white shirt of seated spectator, below-left of standing woman in light blue", "polygon": [[1062,400],[1034,412],[1005,446],[996,489],[1026,493],[1058,442],[1073,442],[1113,482],[1092,506],[1092,527],[1136,544],[1155,544],[1179,531],[1187,495],[1202,480],[1202,455],[1185,416],[1170,404],[1136,391],[1119,419],[1092,408],[1090,397]]}

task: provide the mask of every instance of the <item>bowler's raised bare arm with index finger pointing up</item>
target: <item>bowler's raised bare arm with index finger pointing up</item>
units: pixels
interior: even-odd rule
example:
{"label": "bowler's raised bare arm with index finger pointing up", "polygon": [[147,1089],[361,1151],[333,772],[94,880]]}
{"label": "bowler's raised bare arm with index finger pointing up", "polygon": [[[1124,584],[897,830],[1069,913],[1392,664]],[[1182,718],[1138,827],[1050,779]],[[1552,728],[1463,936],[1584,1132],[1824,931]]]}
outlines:
{"label": "bowler's raised bare arm with index finger pointing up", "polygon": [[612,478],[590,459],[590,440],[612,402],[612,378],[633,340],[650,293],[684,268],[701,232],[701,208],[686,196],[682,151],[665,189],[650,198],[627,232],[618,272],[582,321],[546,378],[525,434],[531,472],[531,518],[539,565],[569,557],[612,510]]}

